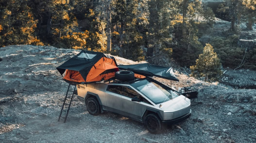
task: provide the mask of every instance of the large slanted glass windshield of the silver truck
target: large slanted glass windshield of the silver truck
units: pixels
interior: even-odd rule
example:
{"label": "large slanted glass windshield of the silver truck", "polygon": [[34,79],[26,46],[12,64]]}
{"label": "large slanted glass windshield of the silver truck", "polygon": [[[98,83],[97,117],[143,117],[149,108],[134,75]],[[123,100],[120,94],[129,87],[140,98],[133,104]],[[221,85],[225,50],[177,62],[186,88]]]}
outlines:
{"label": "large slanted glass windshield of the silver truck", "polygon": [[175,90],[172,90],[151,78],[134,83],[132,86],[155,104],[163,103],[179,96]]}

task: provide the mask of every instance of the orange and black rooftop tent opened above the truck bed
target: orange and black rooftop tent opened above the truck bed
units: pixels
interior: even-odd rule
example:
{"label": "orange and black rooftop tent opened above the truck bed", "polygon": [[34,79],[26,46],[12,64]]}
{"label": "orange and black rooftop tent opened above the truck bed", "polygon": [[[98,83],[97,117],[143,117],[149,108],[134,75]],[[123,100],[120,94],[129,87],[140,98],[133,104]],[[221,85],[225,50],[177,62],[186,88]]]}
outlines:
{"label": "orange and black rooftop tent opened above the truck bed", "polygon": [[86,50],[82,50],[56,69],[61,75],[66,71],[63,79],[79,83],[107,80],[119,71],[113,56]]}

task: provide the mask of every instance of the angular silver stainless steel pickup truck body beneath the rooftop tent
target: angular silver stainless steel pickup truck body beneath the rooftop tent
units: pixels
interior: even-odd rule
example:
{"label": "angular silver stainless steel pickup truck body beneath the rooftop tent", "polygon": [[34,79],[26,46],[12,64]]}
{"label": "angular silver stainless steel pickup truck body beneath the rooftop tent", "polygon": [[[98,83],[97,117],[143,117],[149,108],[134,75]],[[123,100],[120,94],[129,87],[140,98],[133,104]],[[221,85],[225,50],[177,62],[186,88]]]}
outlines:
{"label": "angular silver stainless steel pickup truck body beneath the rooftop tent", "polygon": [[[80,84],[77,85],[77,93],[81,102],[90,105],[87,105],[87,110],[90,108],[91,112],[96,110],[95,106],[98,104],[101,112],[118,113],[142,123],[147,122],[149,126],[154,123],[149,122],[149,114],[156,116],[152,119],[158,118],[160,126],[163,123],[177,124],[191,114],[188,98],[150,77],[129,82],[111,80],[105,83]],[[88,100],[89,98],[95,100]],[[151,133],[158,133],[159,130],[149,129]]]}

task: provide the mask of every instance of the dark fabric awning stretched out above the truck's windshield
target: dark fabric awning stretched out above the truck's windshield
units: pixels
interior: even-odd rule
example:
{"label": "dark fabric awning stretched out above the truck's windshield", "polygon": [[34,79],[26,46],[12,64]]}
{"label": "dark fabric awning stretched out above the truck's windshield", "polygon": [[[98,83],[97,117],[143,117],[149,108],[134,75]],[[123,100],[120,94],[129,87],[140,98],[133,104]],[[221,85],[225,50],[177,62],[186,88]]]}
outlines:
{"label": "dark fabric awning stretched out above the truck's windshield", "polygon": [[120,70],[129,70],[145,76],[156,76],[173,81],[179,81],[173,73],[172,68],[156,66],[149,63],[136,65],[119,65]]}

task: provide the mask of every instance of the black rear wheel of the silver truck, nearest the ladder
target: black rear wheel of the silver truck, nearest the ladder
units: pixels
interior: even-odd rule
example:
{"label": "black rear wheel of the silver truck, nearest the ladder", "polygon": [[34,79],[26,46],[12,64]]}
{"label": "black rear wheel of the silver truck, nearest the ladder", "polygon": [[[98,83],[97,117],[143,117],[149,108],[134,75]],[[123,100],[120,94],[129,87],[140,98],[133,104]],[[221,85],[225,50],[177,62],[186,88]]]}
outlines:
{"label": "black rear wheel of the silver truck, nearest the ladder", "polygon": [[90,97],[86,100],[86,108],[87,111],[94,116],[98,115],[100,112],[99,103],[95,97]]}

